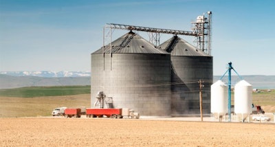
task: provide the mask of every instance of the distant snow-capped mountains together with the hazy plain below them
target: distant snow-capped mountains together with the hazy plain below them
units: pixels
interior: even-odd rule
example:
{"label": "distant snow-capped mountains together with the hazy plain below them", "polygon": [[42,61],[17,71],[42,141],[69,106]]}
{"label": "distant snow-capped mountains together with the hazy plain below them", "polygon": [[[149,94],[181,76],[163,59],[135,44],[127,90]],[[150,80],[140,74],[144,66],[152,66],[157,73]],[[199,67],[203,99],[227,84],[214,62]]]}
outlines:
{"label": "distant snow-capped mountains together with the hazy plain below them", "polygon": [[[213,82],[219,80],[221,76],[214,76]],[[275,89],[275,76],[252,75],[242,76],[252,84],[254,89]],[[228,82],[228,77],[222,78],[223,82]],[[241,78],[232,76],[232,86],[239,82]],[[44,87],[44,86],[71,86],[90,85],[91,73],[88,71],[14,71],[0,72],[0,89],[12,89],[18,87]]]}

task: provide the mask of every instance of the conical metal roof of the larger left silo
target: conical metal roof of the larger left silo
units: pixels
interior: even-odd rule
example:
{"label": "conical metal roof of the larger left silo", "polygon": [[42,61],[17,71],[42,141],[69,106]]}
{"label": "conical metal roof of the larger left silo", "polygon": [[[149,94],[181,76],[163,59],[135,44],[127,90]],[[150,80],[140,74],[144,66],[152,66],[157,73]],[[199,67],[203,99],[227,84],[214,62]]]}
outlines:
{"label": "conical metal roof of the larger left silo", "polygon": [[[140,35],[135,34],[134,32],[129,32],[124,34],[120,38],[116,39],[110,45],[105,45],[104,53],[110,54],[168,54],[168,52],[158,49],[152,43],[149,43]],[[102,54],[103,47],[98,49],[92,54]]]}

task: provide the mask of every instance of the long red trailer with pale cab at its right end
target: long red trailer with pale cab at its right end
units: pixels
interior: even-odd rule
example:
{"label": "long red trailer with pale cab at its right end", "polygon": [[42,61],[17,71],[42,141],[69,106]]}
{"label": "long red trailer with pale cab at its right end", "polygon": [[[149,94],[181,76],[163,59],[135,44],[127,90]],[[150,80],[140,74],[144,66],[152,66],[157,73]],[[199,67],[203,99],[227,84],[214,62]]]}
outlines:
{"label": "long red trailer with pale cab at its right end", "polygon": [[87,117],[139,118],[140,114],[131,109],[86,109]]}

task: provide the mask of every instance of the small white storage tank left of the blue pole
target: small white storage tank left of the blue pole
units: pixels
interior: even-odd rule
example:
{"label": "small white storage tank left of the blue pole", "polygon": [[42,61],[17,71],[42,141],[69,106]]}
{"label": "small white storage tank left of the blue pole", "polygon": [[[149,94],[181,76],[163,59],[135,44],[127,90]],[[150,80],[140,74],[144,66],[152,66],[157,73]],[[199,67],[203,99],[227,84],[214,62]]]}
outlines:
{"label": "small white storage tank left of the blue pole", "polygon": [[228,86],[221,80],[211,85],[211,113],[228,113]]}

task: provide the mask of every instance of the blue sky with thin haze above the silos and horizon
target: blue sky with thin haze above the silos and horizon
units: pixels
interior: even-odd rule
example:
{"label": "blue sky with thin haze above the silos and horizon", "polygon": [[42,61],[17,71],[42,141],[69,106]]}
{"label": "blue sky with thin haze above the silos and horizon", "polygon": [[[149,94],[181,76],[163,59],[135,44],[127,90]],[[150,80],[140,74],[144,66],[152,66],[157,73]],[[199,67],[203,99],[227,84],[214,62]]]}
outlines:
{"label": "blue sky with thin haze above the silos and horizon", "polygon": [[[212,11],[214,75],[275,75],[273,0],[0,0],[0,71],[89,71],[106,23],[190,31]],[[113,38],[126,34],[115,30]],[[141,34],[144,38],[148,35]],[[172,37],[161,36],[161,43]],[[180,36],[192,43],[192,36]]]}

